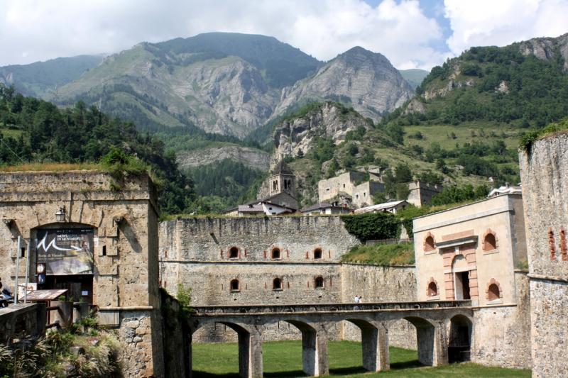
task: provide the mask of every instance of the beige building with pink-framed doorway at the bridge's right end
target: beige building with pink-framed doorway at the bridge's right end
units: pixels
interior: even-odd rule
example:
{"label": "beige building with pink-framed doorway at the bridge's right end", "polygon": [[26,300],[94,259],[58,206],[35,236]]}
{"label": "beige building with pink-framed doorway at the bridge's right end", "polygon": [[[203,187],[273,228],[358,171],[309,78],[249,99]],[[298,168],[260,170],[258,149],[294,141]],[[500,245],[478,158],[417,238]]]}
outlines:
{"label": "beige building with pink-framed doorway at the bridge's right end", "polygon": [[502,194],[415,218],[413,231],[417,300],[471,299],[471,360],[530,367],[522,196]]}

